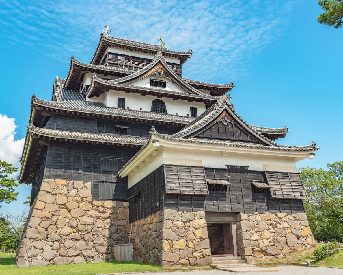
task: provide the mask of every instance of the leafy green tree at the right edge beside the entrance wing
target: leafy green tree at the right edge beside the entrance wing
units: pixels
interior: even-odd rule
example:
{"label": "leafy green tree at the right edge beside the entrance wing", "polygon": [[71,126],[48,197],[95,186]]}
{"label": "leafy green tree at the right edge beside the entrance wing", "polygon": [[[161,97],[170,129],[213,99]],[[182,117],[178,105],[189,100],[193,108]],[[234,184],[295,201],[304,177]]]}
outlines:
{"label": "leafy green tree at the right edge beside the entrance wing", "polygon": [[304,201],[308,221],[315,239],[343,238],[343,161],[328,164],[328,171],[299,169],[309,199]]}

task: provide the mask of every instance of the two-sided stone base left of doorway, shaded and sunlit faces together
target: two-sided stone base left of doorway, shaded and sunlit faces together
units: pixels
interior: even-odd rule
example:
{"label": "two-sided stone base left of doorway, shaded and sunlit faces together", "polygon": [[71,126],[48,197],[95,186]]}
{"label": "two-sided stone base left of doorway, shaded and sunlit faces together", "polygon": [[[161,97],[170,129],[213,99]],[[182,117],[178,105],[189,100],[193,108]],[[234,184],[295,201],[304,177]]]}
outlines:
{"label": "two-sided stone base left of doorway, shaded and sunlit faces together", "polygon": [[165,209],[132,226],[134,260],[170,265],[212,262],[205,212]]}

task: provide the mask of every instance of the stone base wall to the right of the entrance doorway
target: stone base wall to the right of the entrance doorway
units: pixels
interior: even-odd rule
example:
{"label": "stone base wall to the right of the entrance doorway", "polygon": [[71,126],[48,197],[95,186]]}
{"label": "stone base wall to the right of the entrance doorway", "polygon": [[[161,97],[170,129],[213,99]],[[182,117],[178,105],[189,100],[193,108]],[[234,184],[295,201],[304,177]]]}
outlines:
{"label": "stone base wall to the right of the entrance doorway", "polygon": [[238,254],[247,262],[282,258],[315,244],[305,213],[237,214]]}

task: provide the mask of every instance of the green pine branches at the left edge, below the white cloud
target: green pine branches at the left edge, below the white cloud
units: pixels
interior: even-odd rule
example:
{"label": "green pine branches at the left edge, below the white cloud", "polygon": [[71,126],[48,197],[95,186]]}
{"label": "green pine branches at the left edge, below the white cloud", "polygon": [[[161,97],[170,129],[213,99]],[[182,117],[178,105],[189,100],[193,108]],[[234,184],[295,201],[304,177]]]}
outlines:
{"label": "green pine branches at the left edge, below the white cloud", "polygon": [[18,185],[15,183],[15,179],[8,178],[9,175],[17,171],[18,168],[12,167],[12,164],[0,161],[0,203],[10,203],[17,199],[18,192],[15,192],[14,187]]}

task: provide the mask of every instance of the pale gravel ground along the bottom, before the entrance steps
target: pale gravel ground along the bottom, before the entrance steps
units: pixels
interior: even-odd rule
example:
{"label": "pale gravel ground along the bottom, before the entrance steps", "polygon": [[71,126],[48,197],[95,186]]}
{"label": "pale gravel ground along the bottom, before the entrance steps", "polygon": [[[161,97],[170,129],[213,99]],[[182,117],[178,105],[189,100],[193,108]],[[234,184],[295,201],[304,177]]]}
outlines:
{"label": "pale gravel ground along the bottom, before the entrance steps", "polygon": [[[170,272],[170,275],[229,275],[229,274],[241,274],[241,275],[342,275],[343,269],[340,268],[327,268],[327,267],[304,267],[304,266],[279,266],[276,267],[278,272],[244,272],[233,273],[221,270],[198,270],[198,271],[182,271],[182,272]],[[267,268],[266,268],[267,270]],[[166,275],[162,273],[144,273],[151,275]]]}

